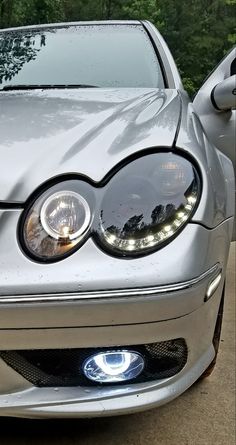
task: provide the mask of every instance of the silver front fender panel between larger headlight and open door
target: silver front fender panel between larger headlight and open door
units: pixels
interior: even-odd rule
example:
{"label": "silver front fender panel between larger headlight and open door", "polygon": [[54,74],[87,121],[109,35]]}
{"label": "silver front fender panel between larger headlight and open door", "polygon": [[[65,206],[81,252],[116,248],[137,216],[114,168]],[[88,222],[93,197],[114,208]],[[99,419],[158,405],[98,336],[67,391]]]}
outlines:
{"label": "silver front fender panel between larger headlight and open door", "polygon": [[234,168],[209,140],[186,93],[181,93],[181,100],[176,146],[196,159],[202,174],[202,196],[193,220],[212,228],[234,215]]}

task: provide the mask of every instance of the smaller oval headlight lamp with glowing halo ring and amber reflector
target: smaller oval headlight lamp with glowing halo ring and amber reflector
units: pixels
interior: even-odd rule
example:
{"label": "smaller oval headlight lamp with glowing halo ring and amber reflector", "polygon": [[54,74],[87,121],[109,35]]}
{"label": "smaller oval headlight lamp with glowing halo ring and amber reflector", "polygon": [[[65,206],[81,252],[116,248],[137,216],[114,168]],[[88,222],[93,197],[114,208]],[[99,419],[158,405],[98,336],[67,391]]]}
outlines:
{"label": "smaller oval headlight lamp with glowing halo ring and amber reflector", "polygon": [[[77,186],[77,181],[57,184],[39,196],[26,212],[21,241],[35,259],[61,259],[72,253],[88,234],[92,221],[90,205]],[[83,190],[83,185],[80,188]],[[89,197],[88,190],[83,194]]]}

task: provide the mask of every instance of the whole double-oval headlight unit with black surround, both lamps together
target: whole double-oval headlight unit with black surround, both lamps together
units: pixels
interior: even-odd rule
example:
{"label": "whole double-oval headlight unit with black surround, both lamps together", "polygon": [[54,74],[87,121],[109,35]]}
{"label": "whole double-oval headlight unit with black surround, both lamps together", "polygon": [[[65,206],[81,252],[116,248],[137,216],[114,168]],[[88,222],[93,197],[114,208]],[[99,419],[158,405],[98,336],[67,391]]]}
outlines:
{"label": "whole double-oval headlight unit with black surround, both lamps together", "polygon": [[100,184],[66,178],[30,199],[19,225],[24,252],[54,262],[89,236],[110,255],[147,255],[170,242],[195,212],[197,167],[172,152],[149,153]]}

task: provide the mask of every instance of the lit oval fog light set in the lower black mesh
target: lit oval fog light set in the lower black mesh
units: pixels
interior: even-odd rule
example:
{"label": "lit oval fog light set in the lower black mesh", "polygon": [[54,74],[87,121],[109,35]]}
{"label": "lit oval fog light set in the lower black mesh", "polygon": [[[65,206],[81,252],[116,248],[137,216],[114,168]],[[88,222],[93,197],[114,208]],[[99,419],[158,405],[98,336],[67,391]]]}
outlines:
{"label": "lit oval fog light set in the lower black mesh", "polygon": [[144,368],[138,352],[108,351],[89,357],[84,365],[85,376],[99,383],[123,382],[137,377]]}

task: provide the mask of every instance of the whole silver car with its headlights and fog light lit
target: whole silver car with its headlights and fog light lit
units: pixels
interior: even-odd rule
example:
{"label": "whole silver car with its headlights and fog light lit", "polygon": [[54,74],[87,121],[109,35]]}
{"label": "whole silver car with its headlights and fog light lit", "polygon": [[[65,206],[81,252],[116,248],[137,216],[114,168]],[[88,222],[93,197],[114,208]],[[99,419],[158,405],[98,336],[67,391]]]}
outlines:
{"label": "whole silver car with its headlights and fog light lit", "polygon": [[212,371],[235,56],[191,103],[149,22],[0,32],[0,415],[135,412]]}

